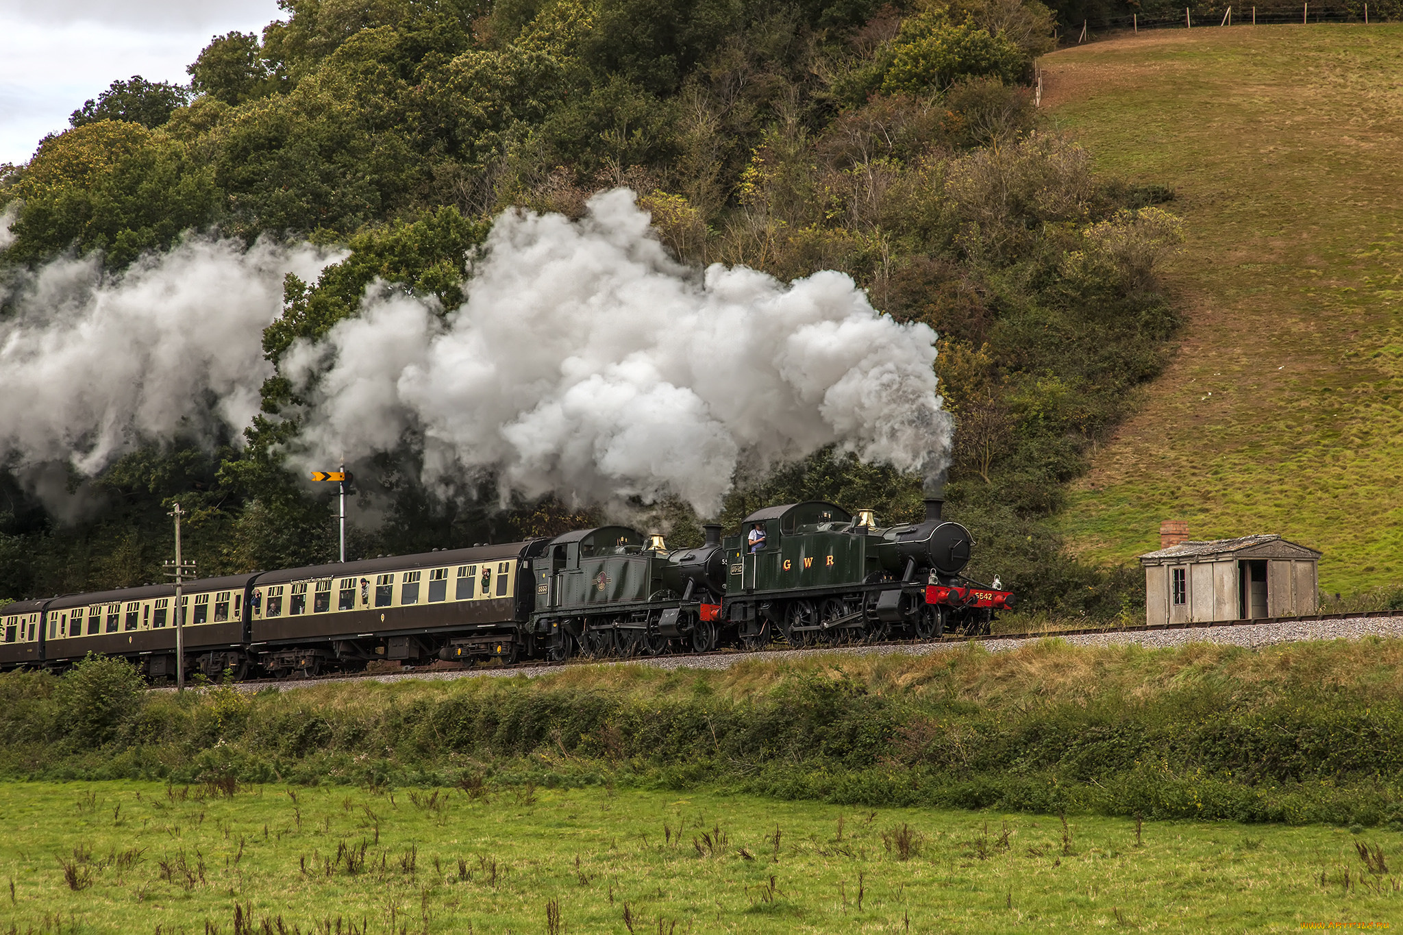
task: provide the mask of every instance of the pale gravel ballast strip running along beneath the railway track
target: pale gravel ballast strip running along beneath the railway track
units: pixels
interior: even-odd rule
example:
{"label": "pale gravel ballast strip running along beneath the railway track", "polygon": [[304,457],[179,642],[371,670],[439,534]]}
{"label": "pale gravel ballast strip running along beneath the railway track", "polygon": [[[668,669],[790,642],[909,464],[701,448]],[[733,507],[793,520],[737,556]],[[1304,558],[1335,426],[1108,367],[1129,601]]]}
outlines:
{"label": "pale gravel ballast strip running along beneath the railway track", "polygon": [[[1235,620],[1211,624],[1166,624],[1136,627],[1087,627],[1080,629],[1056,629],[1045,632],[991,634],[981,636],[944,636],[939,641],[891,639],[874,643],[847,643],[831,646],[790,648],[776,643],[766,649],[718,649],[706,653],[675,653],[664,656],[633,657],[575,657],[568,662],[528,662],[506,667],[462,667],[462,669],[405,669],[394,673],[335,673],[313,678],[250,678],[239,683],[241,691],[262,691],[276,688],[306,688],[338,681],[401,681],[405,678],[474,678],[502,676],[540,676],[570,666],[644,664],[661,669],[730,669],[741,662],[769,662],[791,657],[794,653],[829,652],[845,655],[887,655],[899,652],[934,652],[967,643],[982,643],[991,652],[1016,649],[1038,639],[1066,639],[1078,645],[1124,645],[1139,643],[1150,646],[1177,646],[1188,642],[1219,642],[1243,646],[1260,646],[1280,642],[1310,639],[1360,638],[1367,635],[1403,636],[1403,610],[1361,611],[1355,614],[1315,614],[1306,617],[1274,617],[1264,620]],[[170,687],[153,691],[174,691]]]}

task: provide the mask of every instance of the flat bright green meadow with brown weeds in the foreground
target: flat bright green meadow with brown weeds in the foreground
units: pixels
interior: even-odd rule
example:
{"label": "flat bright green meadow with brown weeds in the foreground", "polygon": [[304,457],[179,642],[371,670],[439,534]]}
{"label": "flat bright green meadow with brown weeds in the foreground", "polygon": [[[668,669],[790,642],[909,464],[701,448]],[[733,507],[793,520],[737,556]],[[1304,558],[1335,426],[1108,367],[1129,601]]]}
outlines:
{"label": "flat bright green meadow with brown weeds in the foreground", "polygon": [[0,786],[0,931],[233,932],[237,913],[248,931],[540,932],[551,903],[570,932],[1298,931],[1403,908],[1399,876],[1357,852],[1403,864],[1389,831],[1076,817],[1063,835],[1055,816],[702,792],[227,791]]}

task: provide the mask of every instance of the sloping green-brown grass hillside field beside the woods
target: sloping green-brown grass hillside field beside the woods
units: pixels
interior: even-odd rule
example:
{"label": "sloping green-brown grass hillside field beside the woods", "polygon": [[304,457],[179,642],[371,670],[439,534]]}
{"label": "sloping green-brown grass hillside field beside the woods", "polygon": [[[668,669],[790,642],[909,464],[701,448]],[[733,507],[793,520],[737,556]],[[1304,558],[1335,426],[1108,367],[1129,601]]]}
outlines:
{"label": "sloping green-brown grass hillside field beside the woods", "polygon": [[1125,561],[1159,521],[1323,550],[1320,583],[1403,582],[1403,25],[1142,34],[1042,59],[1097,164],[1174,186],[1190,324],[1062,526]]}

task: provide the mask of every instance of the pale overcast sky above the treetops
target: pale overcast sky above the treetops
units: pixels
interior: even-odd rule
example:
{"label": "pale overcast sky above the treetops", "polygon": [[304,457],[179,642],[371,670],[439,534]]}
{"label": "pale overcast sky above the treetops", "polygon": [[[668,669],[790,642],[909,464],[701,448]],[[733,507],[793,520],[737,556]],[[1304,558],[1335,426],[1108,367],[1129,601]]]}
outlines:
{"label": "pale overcast sky above the treetops", "polygon": [[0,0],[0,163],[28,161],[114,80],[185,84],[210,36],[276,18],[276,0]]}

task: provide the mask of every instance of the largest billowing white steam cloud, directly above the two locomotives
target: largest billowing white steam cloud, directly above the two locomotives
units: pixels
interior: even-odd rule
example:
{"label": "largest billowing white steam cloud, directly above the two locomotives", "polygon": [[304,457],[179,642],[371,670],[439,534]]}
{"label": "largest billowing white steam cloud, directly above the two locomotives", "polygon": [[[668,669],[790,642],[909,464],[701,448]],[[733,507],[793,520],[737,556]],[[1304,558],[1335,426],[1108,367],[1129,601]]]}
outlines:
{"label": "largest billowing white steam cloud, directly above the two locomotives", "polygon": [[852,279],[793,285],[666,255],[633,192],[588,214],[504,214],[467,301],[442,317],[373,289],[362,315],[295,345],[307,467],[422,435],[425,481],[495,470],[505,498],[675,493],[713,514],[737,465],[838,443],[932,475],[951,422],[934,332],[880,315]]}

